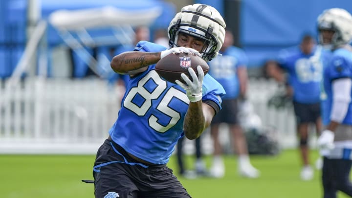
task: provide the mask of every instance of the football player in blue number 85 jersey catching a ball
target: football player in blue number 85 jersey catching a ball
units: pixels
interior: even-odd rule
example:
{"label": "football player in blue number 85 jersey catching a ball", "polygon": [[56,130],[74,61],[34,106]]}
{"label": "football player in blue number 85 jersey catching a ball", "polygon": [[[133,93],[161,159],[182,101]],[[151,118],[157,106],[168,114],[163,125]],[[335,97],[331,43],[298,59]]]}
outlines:
{"label": "football player in blue number 85 jersey catching a ball", "polygon": [[198,66],[198,76],[177,84],[160,78],[155,64],[171,53],[192,53],[205,61],[223,44],[225,22],[213,7],[193,4],[170,22],[171,49],[146,41],[115,56],[111,68],[130,75],[121,110],[99,148],[93,167],[95,197],[190,198],[166,166],[182,136],[197,138],[220,110],[224,89]]}

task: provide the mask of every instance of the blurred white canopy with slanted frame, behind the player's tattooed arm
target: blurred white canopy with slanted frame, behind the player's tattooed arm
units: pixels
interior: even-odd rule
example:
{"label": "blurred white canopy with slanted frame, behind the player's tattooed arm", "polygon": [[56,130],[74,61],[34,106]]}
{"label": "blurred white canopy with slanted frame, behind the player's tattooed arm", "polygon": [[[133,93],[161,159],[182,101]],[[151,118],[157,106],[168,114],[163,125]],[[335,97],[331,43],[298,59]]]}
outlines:
{"label": "blurred white canopy with slanted frame, behind the player's tattooed arm", "polygon": [[[148,9],[124,10],[104,6],[80,10],[58,10],[50,14],[48,19],[58,30],[63,41],[86,62],[90,69],[105,78],[109,75],[110,68],[106,68],[110,65],[109,59],[104,58],[103,66],[99,66],[85,46],[132,44],[134,38],[132,28],[139,25],[149,26],[160,16],[161,9],[155,6]],[[98,36],[89,33],[90,29],[99,28],[103,30]],[[110,28],[110,31],[104,28]],[[109,33],[105,34],[107,32]]]}

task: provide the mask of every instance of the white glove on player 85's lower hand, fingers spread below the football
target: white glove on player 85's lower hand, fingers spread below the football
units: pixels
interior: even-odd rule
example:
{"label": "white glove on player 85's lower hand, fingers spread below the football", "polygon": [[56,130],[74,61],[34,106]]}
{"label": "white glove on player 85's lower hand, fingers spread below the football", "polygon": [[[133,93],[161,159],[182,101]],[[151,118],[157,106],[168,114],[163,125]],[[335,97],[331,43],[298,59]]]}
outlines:
{"label": "white glove on player 85's lower hand, fingers spread below the football", "polygon": [[187,77],[186,74],[181,73],[181,78],[186,82],[186,84],[181,83],[179,80],[176,80],[175,82],[177,85],[179,85],[181,88],[186,90],[186,94],[190,102],[197,102],[201,100],[202,96],[202,84],[203,84],[203,78],[204,78],[204,71],[201,68],[201,66],[197,66],[197,71],[198,71],[198,77],[196,72],[193,70],[193,68],[189,67],[188,72],[190,73],[193,82]]}

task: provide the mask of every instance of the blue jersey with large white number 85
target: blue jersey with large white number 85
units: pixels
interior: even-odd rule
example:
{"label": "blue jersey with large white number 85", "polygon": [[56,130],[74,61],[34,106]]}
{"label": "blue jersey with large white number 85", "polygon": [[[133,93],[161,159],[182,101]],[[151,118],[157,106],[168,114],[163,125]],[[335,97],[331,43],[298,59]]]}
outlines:
{"label": "blue jersey with large white number 85", "polygon": [[[166,48],[139,42],[134,50],[159,52]],[[118,118],[109,133],[128,153],[153,164],[166,164],[182,132],[189,100],[181,87],[164,81],[155,65],[132,77],[122,99]],[[203,80],[202,100],[211,100],[219,108],[225,93],[210,75]]]}

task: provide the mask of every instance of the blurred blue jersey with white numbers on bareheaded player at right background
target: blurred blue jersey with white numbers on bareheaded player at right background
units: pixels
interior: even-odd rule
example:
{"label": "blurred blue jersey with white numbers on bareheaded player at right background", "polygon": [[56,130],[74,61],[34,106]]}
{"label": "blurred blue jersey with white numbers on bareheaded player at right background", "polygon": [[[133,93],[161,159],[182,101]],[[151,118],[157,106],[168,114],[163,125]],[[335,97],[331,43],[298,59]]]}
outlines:
{"label": "blurred blue jersey with white numbers on bareheaded player at right background", "polygon": [[293,100],[303,104],[320,102],[325,50],[315,47],[311,54],[304,54],[298,46],[279,53],[279,64],[288,73],[287,83],[293,88]]}

